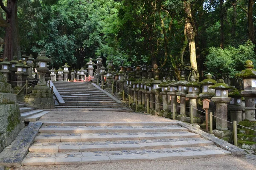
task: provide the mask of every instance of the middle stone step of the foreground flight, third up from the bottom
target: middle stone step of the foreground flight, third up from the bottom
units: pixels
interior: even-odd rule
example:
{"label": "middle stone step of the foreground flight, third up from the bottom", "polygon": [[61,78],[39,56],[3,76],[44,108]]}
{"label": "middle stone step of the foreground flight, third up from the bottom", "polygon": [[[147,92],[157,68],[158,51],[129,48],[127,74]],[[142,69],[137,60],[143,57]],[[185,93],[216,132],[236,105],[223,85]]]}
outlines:
{"label": "middle stone step of the foreground flight, third up from the bottom", "polygon": [[35,142],[85,142],[85,141],[120,141],[120,140],[148,140],[148,139],[180,139],[199,138],[189,132],[147,132],[147,133],[83,133],[73,136],[70,133],[40,133]]}

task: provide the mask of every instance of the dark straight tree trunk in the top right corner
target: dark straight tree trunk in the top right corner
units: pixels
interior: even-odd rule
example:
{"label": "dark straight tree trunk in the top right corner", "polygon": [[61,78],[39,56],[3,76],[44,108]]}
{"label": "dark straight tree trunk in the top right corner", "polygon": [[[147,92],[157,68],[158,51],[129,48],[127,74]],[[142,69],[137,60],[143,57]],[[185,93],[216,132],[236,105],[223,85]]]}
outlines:
{"label": "dark straight tree trunk in the top right corner", "polygon": [[254,26],[253,26],[253,4],[254,0],[248,2],[248,23],[249,23],[249,39],[255,44]]}

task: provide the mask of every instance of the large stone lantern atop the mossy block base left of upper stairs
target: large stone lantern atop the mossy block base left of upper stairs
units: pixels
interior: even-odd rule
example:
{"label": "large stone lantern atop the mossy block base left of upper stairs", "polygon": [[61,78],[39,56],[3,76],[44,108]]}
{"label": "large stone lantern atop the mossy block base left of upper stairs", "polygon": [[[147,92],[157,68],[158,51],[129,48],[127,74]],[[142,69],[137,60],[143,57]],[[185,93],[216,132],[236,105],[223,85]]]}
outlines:
{"label": "large stone lantern atop the mossy block base left of upper stairs", "polygon": [[40,75],[37,85],[44,86],[44,85],[46,85],[45,74],[49,71],[49,69],[47,68],[47,62],[50,62],[51,59],[46,57],[45,51],[41,51],[41,53],[38,54],[38,57],[36,58],[36,61],[39,62],[39,66],[37,68],[37,71]]}

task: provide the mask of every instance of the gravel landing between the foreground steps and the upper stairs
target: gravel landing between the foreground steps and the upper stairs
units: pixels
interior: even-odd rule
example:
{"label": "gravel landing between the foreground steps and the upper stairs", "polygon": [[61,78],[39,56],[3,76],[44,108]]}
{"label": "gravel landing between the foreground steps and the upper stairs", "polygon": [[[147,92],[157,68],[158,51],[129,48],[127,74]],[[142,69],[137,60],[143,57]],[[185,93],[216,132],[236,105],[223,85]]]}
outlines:
{"label": "gravel landing between the foreground steps and the upper stairs", "polygon": [[171,119],[134,112],[50,111],[41,122],[172,122]]}

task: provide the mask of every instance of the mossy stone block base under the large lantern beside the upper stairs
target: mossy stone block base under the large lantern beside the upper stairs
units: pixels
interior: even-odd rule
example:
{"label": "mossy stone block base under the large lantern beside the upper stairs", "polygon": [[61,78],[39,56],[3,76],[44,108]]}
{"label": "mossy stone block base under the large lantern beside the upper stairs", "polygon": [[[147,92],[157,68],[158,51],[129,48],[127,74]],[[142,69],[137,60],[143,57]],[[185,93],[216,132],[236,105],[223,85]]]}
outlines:
{"label": "mossy stone block base under the large lantern beside the upper stairs", "polygon": [[39,109],[54,109],[53,94],[48,86],[36,85],[32,93],[25,96],[25,103]]}

